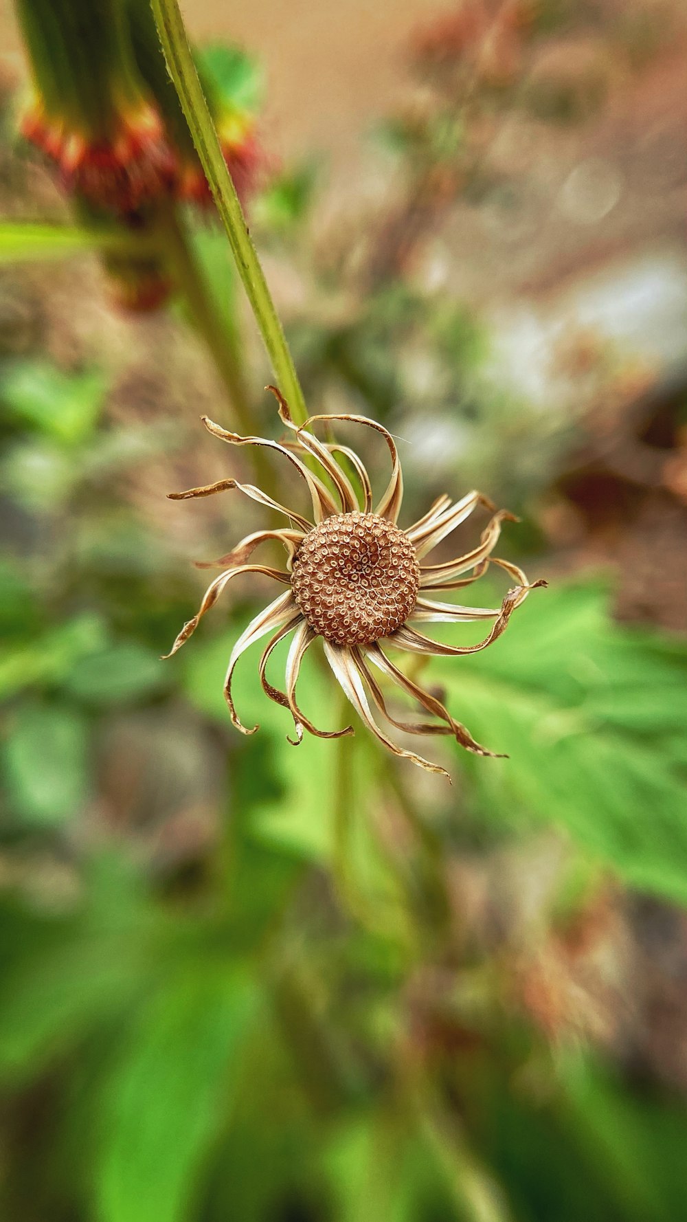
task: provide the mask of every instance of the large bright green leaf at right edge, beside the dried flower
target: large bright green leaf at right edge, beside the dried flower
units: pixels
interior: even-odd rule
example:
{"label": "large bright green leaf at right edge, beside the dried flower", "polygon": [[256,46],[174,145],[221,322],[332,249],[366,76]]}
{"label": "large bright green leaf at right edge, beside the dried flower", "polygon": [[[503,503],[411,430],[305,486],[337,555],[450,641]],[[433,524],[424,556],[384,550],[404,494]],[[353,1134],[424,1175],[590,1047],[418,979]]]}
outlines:
{"label": "large bright green leaf at right edge, beside the dried flower", "polygon": [[627,882],[687,903],[686,645],[614,624],[595,584],[561,585],[433,673],[454,715],[510,755],[460,756],[485,818],[556,824]]}

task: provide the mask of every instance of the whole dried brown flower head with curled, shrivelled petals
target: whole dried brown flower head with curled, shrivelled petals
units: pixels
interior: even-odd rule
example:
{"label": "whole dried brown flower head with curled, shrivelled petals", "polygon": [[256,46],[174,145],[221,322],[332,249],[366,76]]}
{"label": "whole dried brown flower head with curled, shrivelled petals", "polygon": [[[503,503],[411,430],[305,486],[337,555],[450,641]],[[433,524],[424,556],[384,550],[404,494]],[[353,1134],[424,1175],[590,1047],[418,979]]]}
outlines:
{"label": "whole dried brown flower head with curled, shrivelled petals", "polygon": [[[372,732],[396,755],[412,760],[430,772],[445,769],[405,750],[378,726],[372,704],[392,726],[414,734],[451,734],[462,747],[477,755],[493,755],[480,747],[465,726],[455,721],[441,701],[424,690],[403,673],[386,655],[385,648],[394,646],[412,654],[436,654],[454,657],[474,654],[485,649],[504,632],[512,612],[527,598],[532,585],[522,569],[505,560],[498,560],[494,547],[501,523],[513,521],[513,516],[501,510],[494,512],[482,533],[479,544],[463,556],[443,563],[427,563],[425,558],[478,505],[494,511],[494,505],[480,492],[468,492],[462,500],[451,502],[440,496],[432,508],[412,527],[402,530],[397,525],[403,494],[403,477],[396,445],[390,433],[364,415],[313,415],[301,428],[292,422],[287,404],[280,392],[270,386],[279,401],[282,422],[295,434],[295,440],[284,445],[262,437],[242,437],[203,417],[205,428],[230,445],[268,446],[284,455],[304,480],[310,501],[313,521],[279,505],[252,484],[238,484],[235,479],[222,479],[204,488],[192,488],[186,492],[170,494],[171,500],[193,496],[210,496],[225,489],[238,489],[246,496],[290,518],[290,525],[279,530],[258,530],[247,535],[233,551],[218,561],[200,567],[221,567],[222,572],[208,587],[198,612],[181,629],[171,651],[181,649],[194,632],[202,617],[216,602],[232,578],[241,573],[263,573],[281,582],[286,590],[248,624],[236,642],[225,678],[224,694],[237,730],[252,734],[258,726],[248,728],[238,719],[231,694],[231,682],[236,662],[254,642],[273,633],[263,653],[259,673],[265,694],[291,711],[296,725],[296,743],[303,731],[319,738],[339,738],[351,734],[352,727],[344,730],[317,730],[302,712],[296,700],[296,681],[306,650],[321,638],[324,654],[348,700]],[[391,479],[381,499],[374,505],[368,473],[358,455],[344,445],[324,444],[310,430],[318,422],[352,420],[380,433],[391,455]],[[348,478],[345,458],[356,473],[358,490]],[[306,462],[319,464],[329,486]],[[313,459],[315,461],[313,463]],[[335,499],[336,497],[336,499]],[[373,507],[374,506],[374,507]],[[284,569],[266,568],[247,563],[253,551],[263,543],[276,539],[286,551]],[[504,568],[516,580],[506,594],[501,607],[457,606],[452,602],[435,602],[428,594],[469,585],[487,571],[489,563]],[[469,573],[471,576],[465,576]],[[491,621],[484,640],[477,645],[452,646],[430,640],[413,624],[429,621],[467,623]],[[286,661],[286,690],[273,687],[265,677],[271,651],[290,633],[293,639]],[[385,646],[385,648],[383,648]],[[386,697],[373,675],[370,664],[381,671],[435,720],[408,725],[396,721],[388,710]],[[292,739],[290,739],[292,742]]]}

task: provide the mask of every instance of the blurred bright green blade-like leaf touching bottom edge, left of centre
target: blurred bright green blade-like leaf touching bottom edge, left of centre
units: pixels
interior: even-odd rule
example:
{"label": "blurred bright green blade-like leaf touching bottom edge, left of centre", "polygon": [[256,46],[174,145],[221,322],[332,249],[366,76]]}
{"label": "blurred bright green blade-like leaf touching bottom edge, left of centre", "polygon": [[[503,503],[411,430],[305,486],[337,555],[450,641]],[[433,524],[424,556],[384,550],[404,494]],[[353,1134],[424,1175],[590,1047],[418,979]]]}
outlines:
{"label": "blurred bright green blade-like leaf touching bottom edge, left of centre", "polygon": [[222,962],[187,969],[132,1024],[105,1092],[103,1222],[181,1222],[231,1112],[258,993]]}

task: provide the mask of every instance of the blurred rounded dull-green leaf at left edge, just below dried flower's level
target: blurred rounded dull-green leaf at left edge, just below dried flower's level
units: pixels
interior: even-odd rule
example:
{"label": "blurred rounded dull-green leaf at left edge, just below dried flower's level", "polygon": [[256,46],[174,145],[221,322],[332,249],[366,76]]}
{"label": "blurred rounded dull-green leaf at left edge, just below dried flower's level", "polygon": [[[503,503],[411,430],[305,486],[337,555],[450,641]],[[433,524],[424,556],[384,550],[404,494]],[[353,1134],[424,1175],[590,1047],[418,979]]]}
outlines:
{"label": "blurred rounded dull-green leaf at left edge, just below dried flower's level", "polygon": [[51,826],[78,814],[89,791],[88,738],[72,709],[24,705],[10,721],[4,758],[10,807],[20,819]]}

